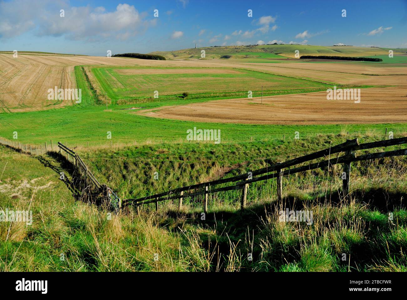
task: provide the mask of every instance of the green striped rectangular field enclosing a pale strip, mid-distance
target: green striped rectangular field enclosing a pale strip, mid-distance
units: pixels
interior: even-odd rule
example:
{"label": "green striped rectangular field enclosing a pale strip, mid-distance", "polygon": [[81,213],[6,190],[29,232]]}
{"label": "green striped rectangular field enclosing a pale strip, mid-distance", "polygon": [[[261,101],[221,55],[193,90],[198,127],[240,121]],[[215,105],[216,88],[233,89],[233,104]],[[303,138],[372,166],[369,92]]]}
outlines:
{"label": "green striped rectangular field enclosing a pale strip, mid-distance", "polygon": [[[141,67],[93,67],[92,73],[98,80],[103,93],[112,99],[118,100],[153,97],[154,91],[159,96],[180,95],[183,92],[193,94],[193,98],[213,98],[217,93],[222,96],[235,96],[241,92],[241,97],[247,96],[247,91],[258,91],[263,85],[265,94],[292,93],[303,90],[323,90],[328,87],[323,83],[231,68],[184,68],[197,70],[196,74],[182,74],[183,68],[141,68]],[[120,70],[176,70],[180,74],[120,74]],[[213,74],[199,74],[199,70]],[[236,72],[228,74],[226,72]],[[215,73],[225,72],[225,73]],[[81,83],[82,84],[82,83]],[[190,97],[191,98],[191,97]]]}

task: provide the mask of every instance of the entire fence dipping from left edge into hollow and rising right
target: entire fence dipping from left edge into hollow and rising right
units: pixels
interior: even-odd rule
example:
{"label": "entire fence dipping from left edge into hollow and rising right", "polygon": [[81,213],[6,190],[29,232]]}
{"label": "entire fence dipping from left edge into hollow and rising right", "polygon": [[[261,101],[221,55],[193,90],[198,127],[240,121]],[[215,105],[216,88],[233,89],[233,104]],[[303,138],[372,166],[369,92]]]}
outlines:
{"label": "entire fence dipping from left edge into hollow and rising right", "polygon": [[[0,138],[0,143],[9,146],[11,148],[20,150],[25,152],[26,154],[31,155],[39,155],[44,154],[48,151],[47,143],[44,145],[44,149],[41,147],[33,148],[31,145],[28,146],[26,144],[18,143],[16,141],[9,141],[7,139]],[[126,199],[120,200],[120,198],[109,188],[107,185],[101,185],[98,180],[96,180],[95,176],[90,172],[88,167],[85,165],[81,157],[75,153],[73,150],[69,149],[68,147],[64,146],[62,143],[58,142],[59,151],[63,150],[66,152],[68,161],[72,161],[75,170],[77,170],[83,178],[85,182],[85,187],[93,187],[98,191],[98,193],[103,194],[103,197],[109,202],[109,205],[113,207],[115,211],[120,210],[122,207],[127,205],[133,204],[137,208],[143,204],[155,203],[155,209],[158,211],[158,202],[165,201],[165,200],[179,200],[178,209],[182,209],[182,202],[183,199],[186,197],[193,197],[198,195],[205,195],[204,197],[204,211],[208,212],[208,195],[212,193],[218,193],[221,191],[230,191],[230,190],[238,190],[242,189],[241,194],[241,209],[244,209],[246,206],[246,197],[247,197],[247,189],[249,188],[250,183],[254,183],[257,181],[269,180],[272,178],[277,179],[277,198],[278,200],[282,199],[282,177],[289,176],[298,172],[305,172],[308,170],[314,170],[318,168],[327,167],[330,165],[336,164],[343,164],[343,173],[342,173],[342,195],[344,198],[348,197],[349,194],[349,183],[350,183],[350,167],[351,163],[354,161],[365,161],[371,159],[379,159],[383,157],[394,157],[394,156],[402,156],[407,155],[407,149],[400,149],[400,150],[392,150],[392,151],[385,151],[385,152],[374,152],[363,154],[361,156],[356,156],[355,151],[357,150],[366,150],[372,148],[379,148],[379,147],[388,147],[388,146],[395,146],[407,143],[407,137],[401,137],[398,139],[387,139],[383,141],[376,141],[371,143],[363,143],[359,144],[358,139],[347,140],[344,143],[341,143],[337,146],[333,146],[330,148],[326,148],[324,150],[320,150],[311,154],[304,155],[302,157],[298,157],[295,159],[290,159],[283,163],[275,163],[271,164],[270,160],[266,160],[269,163],[269,166],[263,167],[258,170],[254,170],[249,174],[241,174],[237,176],[233,176],[230,178],[224,178],[219,180],[212,180],[205,183],[199,183],[195,185],[188,185],[185,187],[179,187],[177,189],[171,189],[162,193],[157,193],[155,195],[146,196],[137,199]],[[51,151],[53,151],[53,143],[50,143]],[[337,154],[344,152],[343,156],[338,156],[335,158],[330,158],[331,154]],[[302,163],[306,163],[309,161],[313,161],[314,159],[320,159],[323,157],[327,157],[323,161],[319,161],[317,163],[309,163],[307,165],[302,165],[298,167],[293,167],[295,165],[299,165]],[[293,167],[293,168],[289,168]],[[274,172],[274,173],[273,173]],[[225,184],[225,183],[235,183],[233,185],[229,185],[226,187],[217,187],[217,185]],[[214,188],[215,187],[215,188]]]}

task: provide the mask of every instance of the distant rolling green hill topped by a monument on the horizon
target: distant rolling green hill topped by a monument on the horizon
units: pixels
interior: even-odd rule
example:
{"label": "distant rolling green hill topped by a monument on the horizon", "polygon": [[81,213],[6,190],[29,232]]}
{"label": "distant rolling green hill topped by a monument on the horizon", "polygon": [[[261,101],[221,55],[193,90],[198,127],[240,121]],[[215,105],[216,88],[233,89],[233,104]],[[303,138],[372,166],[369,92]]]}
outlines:
{"label": "distant rolling green hill topped by a monument on the horizon", "polygon": [[[155,51],[149,54],[158,54],[166,59],[199,59],[201,50],[205,50],[206,59],[219,59],[224,55],[231,58],[261,58],[261,59],[286,59],[294,58],[295,50],[300,55],[333,55],[361,57],[374,55],[388,55],[389,49],[378,47],[355,46],[313,46],[313,45],[250,45],[250,46],[211,46],[203,48],[190,48],[175,51]],[[394,54],[405,54],[405,49],[392,49]]]}

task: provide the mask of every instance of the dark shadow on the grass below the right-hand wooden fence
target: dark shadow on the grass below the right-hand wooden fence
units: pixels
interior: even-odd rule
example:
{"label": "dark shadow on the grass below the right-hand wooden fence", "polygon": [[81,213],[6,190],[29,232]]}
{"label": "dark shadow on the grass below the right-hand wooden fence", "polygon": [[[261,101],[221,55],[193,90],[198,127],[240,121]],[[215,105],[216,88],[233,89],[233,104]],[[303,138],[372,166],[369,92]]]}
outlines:
{"label": "dark shadow on the grass below the right-hand wooden fence", "polygon": [[[404,209],[406,194],[401,192],[389,192],[383,188],[369,189],[368,191],[354,191],[350,197],[356,199],[357,203],[366,204],[369,211],[377,210],[384,215],[382,219],[372,220],[366,218],[362,228],[363,238],[359,240],[348,239],[343,236],[346,243],[346,253],[349,261],[341,261],[341,255],[337,253],[332,245],[331,254],[335,261],[333,271],[344,270],[366,270],[368,266],[380,265],[383,261],[388,261],[389,256],[400,258],[400,245],[387,240],[385,233],[391,233],[392,227],[387,221],[386,214],[394,209]],[[358,200],[359,199],[359,200]],[[204,220],[201,212],[188,213],[178,211],[167,211],[160,220],[160,226],[180,233],[181,231],[195,231],[201,241],[201,248],[208,250],[213,254],[211,261],[211,270],[228,270],[229,257],[231,249],[236,246],[236,252],[239,254],[241,271],[268,270],[278,271],[287,270],[288,264],[295,264],[301,261],[304,245],[300,239],[282,242],[274,240],[270,235],[272,227],[268,225],[267,217],[270,214],[277,213],[281,209],[303,210],[304,207],[310,207],[317,203],[327,204],[332,207],[341,207],[346,205],[346,200],[341,199],[338,191],[333,192],[326,197],[301,198],[298,196],[287,196],[282,200],[282,204],[277,202],[266,202],[264,204],[254,204],[247,207],[244,211],[212,211],[205,215]],[[347,221],[350,229],[352,220]],[[326,229],[332,228],[335,220],[326,220],[323,226]],[[346,223],[347,224],[347,223]],[[304,224],[304,226],[307,226]],[[321,228],[315,229],[311,225],[311,230],[317,236],[317,240],[322,240]],[[333,227],[335,228],[335,227]],[[339,230],[340,228],[337,228]],[[295,229],[293,229],[295,230]],[[384,237],[383,237],[384,235]],[[249,237],[250,236],[250,237]],[[252,243],[250,240],[252,240]],[[269,241],[272,249],[264,250],[260,246],[263,241]],[[390,244],[389,244],[390,243]],[[404,245],[404,244],[403,244]],[[403,246],[401,245],[401,246]],[[232,246],[232,247],[231,247]],[[405,245],[404,245],[405,246]],[[404,247],[405,248],[405,247]],[[268,251],[268,252],[267,252]],[[403,252],[407,249],[402,249]],[[253,261],[247,259],[248,253],[252,253]],[[400,258],[402,259],[402,258]],[[303,270],[309,271],[309,270]]]}

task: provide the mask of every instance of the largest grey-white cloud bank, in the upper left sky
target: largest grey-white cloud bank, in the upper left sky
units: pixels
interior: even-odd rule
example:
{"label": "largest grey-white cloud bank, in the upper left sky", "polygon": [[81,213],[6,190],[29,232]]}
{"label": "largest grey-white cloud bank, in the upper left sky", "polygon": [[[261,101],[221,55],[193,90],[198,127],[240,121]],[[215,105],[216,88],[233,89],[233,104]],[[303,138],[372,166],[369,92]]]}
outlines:
{"label": "largest grey-white cloud bank, in the upper left sky", "polygon": [[[65,17],[60,17],[60,9],[65,10]],[[156,24],[156,18],[144,20],[146,15],[129,4],[118,4],[108,12],[104,7],[70,7],[58,0],[43,0],[41,5],[12,0],[0,2],[0,37],[15,37],[34,30],[37,36],[65,36],[72,40],[123,40]]]}

